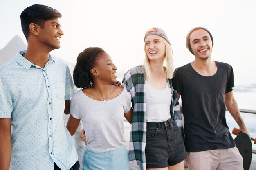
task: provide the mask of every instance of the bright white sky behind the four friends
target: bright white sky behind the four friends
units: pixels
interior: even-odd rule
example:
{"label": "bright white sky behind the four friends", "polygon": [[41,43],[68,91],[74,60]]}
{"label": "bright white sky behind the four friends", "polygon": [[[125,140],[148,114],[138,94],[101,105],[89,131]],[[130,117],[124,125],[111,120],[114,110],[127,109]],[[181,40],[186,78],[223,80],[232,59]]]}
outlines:
{"label": "bright white sky behind the four friends", "polygon": [[32,4],[63,15],[65,35],[51,54],[67,62],[75,64],[85,48],[98,46],[110,54],[117,72],[126,72],[144,61],[144,34],[156,26],[168,35],[176,68],[194,59],[186,34],[204,26],[214,39],[211,58],[233,66],[236,85],[256,83],[255,0],[0,0],[0,49],[15,35],[26,42],[20,13]]}

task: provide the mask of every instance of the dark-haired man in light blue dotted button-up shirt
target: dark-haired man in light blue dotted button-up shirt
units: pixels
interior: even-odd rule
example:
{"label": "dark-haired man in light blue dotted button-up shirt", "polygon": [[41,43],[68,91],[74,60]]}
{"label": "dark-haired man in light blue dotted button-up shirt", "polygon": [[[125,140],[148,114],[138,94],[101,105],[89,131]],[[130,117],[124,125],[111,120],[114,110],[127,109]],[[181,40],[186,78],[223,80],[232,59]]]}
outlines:
{"label": "dark-haired man in light blue dotted button-up shirt", "polygon": [[[0,169],[78,170],[63,113],[75,92],[67,64],[49,54],[64,35],[61,13],[34,4],[20,15],[27,50],[0,67]],[[11,131],[12,125],[12,131]]]}

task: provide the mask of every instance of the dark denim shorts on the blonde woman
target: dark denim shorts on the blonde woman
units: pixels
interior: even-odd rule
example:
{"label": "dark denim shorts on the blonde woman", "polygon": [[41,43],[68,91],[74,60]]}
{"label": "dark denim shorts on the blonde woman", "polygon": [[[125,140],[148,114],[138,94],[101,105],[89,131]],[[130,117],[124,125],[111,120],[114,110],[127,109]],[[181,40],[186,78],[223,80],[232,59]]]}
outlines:
{"label": "dark denim shorts on the blonde woman", "polygon": [[187,157],[184,140],[175,121],[147,122],[146,168],[164,168]]}

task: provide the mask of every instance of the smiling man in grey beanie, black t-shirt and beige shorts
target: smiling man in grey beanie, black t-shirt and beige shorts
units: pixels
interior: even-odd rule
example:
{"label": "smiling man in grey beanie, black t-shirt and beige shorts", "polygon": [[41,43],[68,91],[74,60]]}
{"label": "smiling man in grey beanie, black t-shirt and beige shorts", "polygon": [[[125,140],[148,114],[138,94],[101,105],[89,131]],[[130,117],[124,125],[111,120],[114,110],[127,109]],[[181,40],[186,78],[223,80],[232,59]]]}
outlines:
{"label": "smiling man in grey beanie, black t-shirt and beige shorts", "polygon": [[225,119],[227,107],[240,131],[249,135],[232,92],[233,69],[211,60],[213,37],[206,28],[189,31],[186,47],[195,60],[176,68],[173,87],[182,96],[189,170],[243,170],[243,159]]}

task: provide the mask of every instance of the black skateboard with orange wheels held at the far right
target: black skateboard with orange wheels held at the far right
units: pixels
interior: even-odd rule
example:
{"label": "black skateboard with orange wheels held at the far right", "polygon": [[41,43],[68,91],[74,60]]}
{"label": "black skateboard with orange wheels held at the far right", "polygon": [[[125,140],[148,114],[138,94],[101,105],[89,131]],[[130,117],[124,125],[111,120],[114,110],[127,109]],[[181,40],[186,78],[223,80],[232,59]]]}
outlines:
{"label": "black skateboard with orange wheels held at the far right", "polygon": [[[234,129],[233,129],[234,131]],[[233,133],[232,131],[232,133]],[[239,129],[238,129],[239,131]],[[234,134],[234,133],[233,133]],[[252,161],[252,142],[250,137],[246,133],[236,133],[237,137],[234,139],[236,147],[243,157],[244,170],[249,170]]]}

